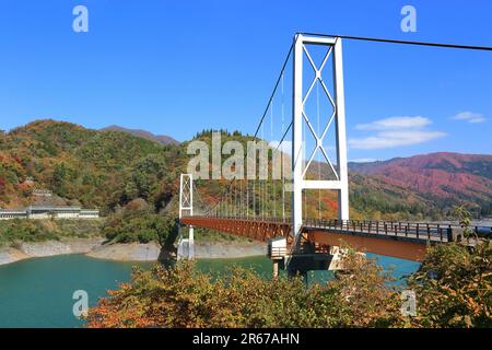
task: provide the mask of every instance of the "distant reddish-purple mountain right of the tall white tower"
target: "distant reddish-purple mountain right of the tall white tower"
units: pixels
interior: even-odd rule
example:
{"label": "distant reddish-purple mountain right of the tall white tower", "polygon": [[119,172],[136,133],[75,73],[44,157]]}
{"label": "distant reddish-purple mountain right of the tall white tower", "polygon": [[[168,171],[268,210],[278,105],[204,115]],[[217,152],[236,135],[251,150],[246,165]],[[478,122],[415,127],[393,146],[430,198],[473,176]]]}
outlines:
{"label": "distant reddish-purple mountain right of the tall white tower", "polygon": [[384,162],[350,163],[352,174],[411,191],[440,208],[465,203],[490,214],[492,155],[438,152]]}

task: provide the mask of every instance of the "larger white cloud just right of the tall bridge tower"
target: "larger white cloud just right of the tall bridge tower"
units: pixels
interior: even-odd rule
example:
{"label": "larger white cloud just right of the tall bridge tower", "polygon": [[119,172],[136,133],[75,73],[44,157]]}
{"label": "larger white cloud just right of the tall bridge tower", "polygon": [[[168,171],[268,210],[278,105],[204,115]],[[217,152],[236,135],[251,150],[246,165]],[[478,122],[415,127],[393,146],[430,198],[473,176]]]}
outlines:
{"label": "larger white cloud just right of the tall bridge tower", "polygon": [[358,130],[377,131],[374,135],[349,139],[352,149],[375,150],[427,142],[445,137],[442,131],[425,130],[432,120],[424,117],[391,117],[355,126]]}

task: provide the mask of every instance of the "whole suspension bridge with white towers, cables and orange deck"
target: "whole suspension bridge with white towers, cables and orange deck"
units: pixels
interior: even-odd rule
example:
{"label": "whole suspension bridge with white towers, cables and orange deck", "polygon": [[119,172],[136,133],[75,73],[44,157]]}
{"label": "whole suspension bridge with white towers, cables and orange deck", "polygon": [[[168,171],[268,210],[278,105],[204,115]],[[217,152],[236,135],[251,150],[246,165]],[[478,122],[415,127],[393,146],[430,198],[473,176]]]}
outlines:
{"label": "whole suspension bridge with white towers, cables and orange deck", "polygon": [[[181,174],[179,256],[194,257],[194,228],[268,243],[274,273],[279,266],[291,273],[338,269],[339,247],[343,244],[360,252],[419,261],[424,258],[429,244],[460,238],[464,230],[459,225],[350,220],[344,39],[492,50],[478,46],[296,34],[250,140],[262,142],[262,149],[254,147],[250,151],[248,144],[247,172],[242,144],[230,144],[229,154],[234,150],[235,158],[229,164],[229,178],[223,178],[229,184],[213,202],[200,195],[203,192],[200,186],[208,186],[207,180],[194,180],[191,172]],[[475,232],[490,236],[492,228],[475,228]]]}

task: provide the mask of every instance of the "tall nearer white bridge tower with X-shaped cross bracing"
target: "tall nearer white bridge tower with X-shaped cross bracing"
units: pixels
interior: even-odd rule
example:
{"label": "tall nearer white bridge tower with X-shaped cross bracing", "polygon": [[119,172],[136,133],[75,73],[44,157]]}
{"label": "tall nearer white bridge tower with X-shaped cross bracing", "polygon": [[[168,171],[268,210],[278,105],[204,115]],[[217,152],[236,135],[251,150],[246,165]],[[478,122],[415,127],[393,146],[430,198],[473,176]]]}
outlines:
{"label": "tall nearer white bridge tower with X-shaped cross bracing", "polygon": [[[309,55],[308,47],[327,46],[327,54],[319,67],[315,65]],[[327,89],[321,74],[327,67],[329,57],[332,55],[332,79],[333,96]],[[303,90],[303,60],[307,58],[315,72],[314,80],[304,93]],[[294,235],[300,233],[303,224],[303,190],[306,189],[332,189],[338,192],[338,219],[349,220],[349,180],[347,164],[347,136],[345,136],[345,105],[343,94],[343,62],[342,62],[342,39],[340,37],[312,37],[297,34],[294,38],[294,82],[293,82],[293,128],[292,128],[292,223]],[[319,83],[329,103],[332,105],[332,114],[327,116],[326,128],[321,132],[316,132],[305,110],[305,103],[313,91],[313,86]],[[304,122],[305,121],[305,122]],[[303,154],[306,150],[303,142],[303,127],[312,133],[315,139],[315,149],[306,164]],[[335,127],[336,135],[336,156],[337,164],[333,165],[328,156],[323,141],[327,138],[327,131]],[[305,141],[305,140],[304,140]],[[305,179],[306,170],[312,163],[315,154],[321,152],[335,175],[335,179]]]}

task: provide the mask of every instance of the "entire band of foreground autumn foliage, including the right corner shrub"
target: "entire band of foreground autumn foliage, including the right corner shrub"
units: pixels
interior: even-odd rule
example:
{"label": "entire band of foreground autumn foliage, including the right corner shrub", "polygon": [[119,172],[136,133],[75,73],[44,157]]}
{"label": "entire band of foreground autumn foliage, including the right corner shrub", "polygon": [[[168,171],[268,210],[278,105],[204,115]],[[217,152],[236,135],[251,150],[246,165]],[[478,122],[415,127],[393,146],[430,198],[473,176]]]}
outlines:
{"label": "entire band of foreground autumn foliage, including the right corner shrub", "polygon": [[401,290],[372,259],[348,249],[344,271],[326,284],[270,280],[232,268],[222,276],[191,262],[136,269],[89,313],[87,327],[492,327],[492,248],[430,248],[407,281],[417,315],[403,316]]}

